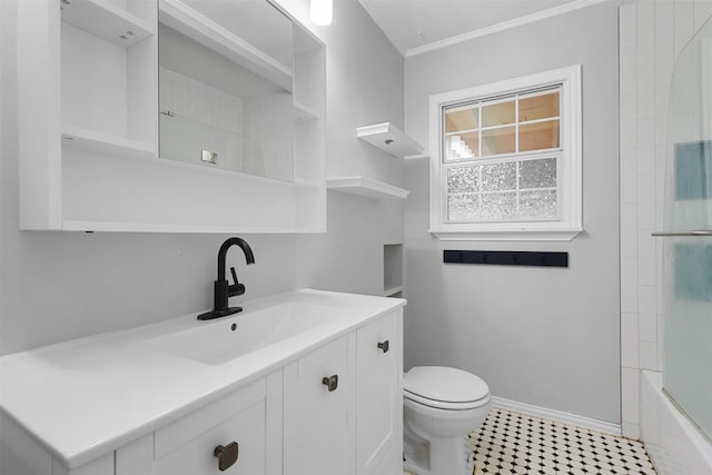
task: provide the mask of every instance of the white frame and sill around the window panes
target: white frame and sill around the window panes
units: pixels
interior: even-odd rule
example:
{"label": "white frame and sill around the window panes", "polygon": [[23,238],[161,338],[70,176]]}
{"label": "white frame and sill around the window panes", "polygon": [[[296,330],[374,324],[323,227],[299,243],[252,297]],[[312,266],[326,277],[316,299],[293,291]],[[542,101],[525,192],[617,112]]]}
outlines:
{"label": "white frame and sill around the window panes", "polygon": [[[557,220],[447,222],[443,109],[447,106],[561,85]],[[429,97],[431,229],[441,240],[571,240],[583,230],[581,65]]]}

